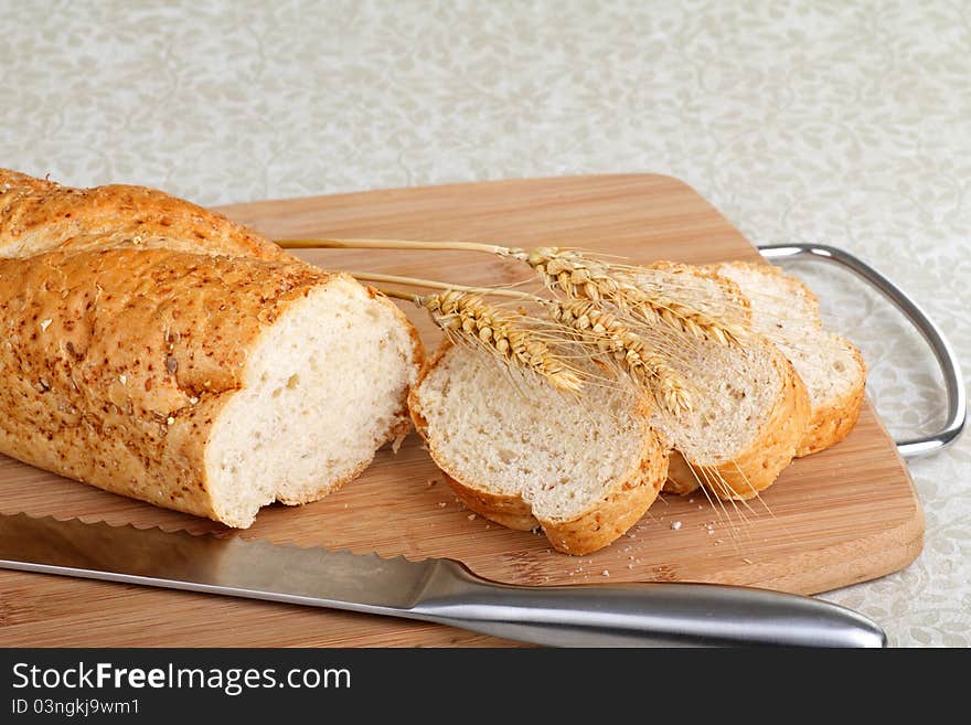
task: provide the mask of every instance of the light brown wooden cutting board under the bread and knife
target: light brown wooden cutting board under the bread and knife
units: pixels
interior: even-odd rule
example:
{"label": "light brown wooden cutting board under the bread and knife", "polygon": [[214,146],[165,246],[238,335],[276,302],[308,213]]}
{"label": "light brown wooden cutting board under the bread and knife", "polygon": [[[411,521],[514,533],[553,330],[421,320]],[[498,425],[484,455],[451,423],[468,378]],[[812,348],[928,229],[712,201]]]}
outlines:
{"label": "light brown wooden cutting board under the bread and knife", "polygon": [[[577,246],[638,263],[756,259],[755,248],[684,183],[607,175],[375,191],[223,210],[271,237],[466,239]],[[470,253],[301,254],[328,268],[466,284],[519,280],[523,269]],[[403,308],[406,309],[406,308]],[[423,314],[406,309],[426,343]],[[527,585],[697,580],[823,591],[897,571],[920,552],[924,516],[913,483],[869,403],[846,440],[796,461],[749,505],[702,494],[663,497],[631,532],[584,557],[546,539],[472,515],[415,435],[382,450],[364,475],[323,501],[265,509],[233,532],[130,501],[0,457],[0,510],[85,521],[264,537],[410,557],[450,556],[477,573]],[[681,522],[680,527],[672,524]],[[708,533],[712,530],[714,533]],[[609,573],[609,577],[605,575]],[[0,572],[6,646],[494,646],[458,629],[290,605]]]}

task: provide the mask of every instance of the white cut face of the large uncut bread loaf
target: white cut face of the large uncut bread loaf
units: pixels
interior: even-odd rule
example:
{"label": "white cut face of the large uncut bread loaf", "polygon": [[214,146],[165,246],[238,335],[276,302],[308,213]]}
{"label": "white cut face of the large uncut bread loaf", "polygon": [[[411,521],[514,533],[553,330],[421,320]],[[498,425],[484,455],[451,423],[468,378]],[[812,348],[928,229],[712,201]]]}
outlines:
{"label": "white cut face of the large uncut bread loaf", "polygon": [[316,501],[407,427],[416,340],[401,312],[335,276],[291,303],[250,352],[213,425],[207,487],[217,520],[253,523],[274,501]]}

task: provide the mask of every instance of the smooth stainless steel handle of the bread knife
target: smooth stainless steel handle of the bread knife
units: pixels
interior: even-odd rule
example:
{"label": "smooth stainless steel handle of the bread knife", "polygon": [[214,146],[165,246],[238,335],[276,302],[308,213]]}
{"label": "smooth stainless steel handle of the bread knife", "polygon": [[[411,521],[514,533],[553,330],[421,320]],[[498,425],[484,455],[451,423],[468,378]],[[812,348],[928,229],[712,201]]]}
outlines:
{"label": "smooth stainless steel handle of the bread knife", "polygon": [[716,584],[512,586],[445,559],[408,616],[553,647],[886,647],[869,619],[809,597]]}

